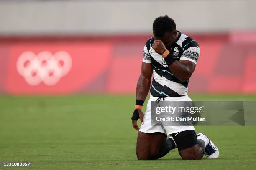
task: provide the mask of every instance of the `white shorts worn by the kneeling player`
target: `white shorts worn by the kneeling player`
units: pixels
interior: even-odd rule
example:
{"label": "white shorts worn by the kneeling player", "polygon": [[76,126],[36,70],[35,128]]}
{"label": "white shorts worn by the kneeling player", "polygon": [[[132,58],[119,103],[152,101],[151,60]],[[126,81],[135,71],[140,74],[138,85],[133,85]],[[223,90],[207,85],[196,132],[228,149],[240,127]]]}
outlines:
{"label": "white shorts worn by the kneeling player", "polygon": [[[141,125],[140,130],[144,133],[155,133],[161,132],[166,135],[171,135],[172,133],[178,133],[185,130],[195,130],[194,126],[164,126],[164,125],[151,125],[151,101],[156,101],[158,97],[150,97],[147,104],[147,110],[144,114],[144,124]],[[163,101],[161,99],[160,101]],[[191,101],[191,99],[185,95],[181,97],[166,97],[164,101]]]}

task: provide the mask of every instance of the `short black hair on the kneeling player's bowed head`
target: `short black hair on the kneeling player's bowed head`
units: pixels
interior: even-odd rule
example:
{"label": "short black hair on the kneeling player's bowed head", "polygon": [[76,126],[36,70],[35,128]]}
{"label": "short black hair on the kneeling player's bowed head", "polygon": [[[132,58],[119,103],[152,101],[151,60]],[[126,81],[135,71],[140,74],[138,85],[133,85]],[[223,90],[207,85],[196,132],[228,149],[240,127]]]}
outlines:
{"label": "short black hair on the kneeling player's bowed head", "polygon": [[172,32],[176,30],[176,24],[174,20],[167,15],[160,16],[154,20],[153,33],[157,37],[164,37],[165,32]]}

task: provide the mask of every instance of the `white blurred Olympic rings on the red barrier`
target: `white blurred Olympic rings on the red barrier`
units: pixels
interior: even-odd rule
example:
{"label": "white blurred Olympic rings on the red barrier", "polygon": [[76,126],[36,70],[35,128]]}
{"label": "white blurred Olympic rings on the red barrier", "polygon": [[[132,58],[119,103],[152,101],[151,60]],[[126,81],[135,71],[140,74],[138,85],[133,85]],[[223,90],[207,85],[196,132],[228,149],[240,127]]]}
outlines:
{"label": "white blurred Olympic rings on the red barrier", "polygon": [[16,63],[18,73],[29,85],[55,85],[61,77],[67,75],[72,67],[72,58],[65,51],[54,55],[42,51],[38,55],[31,51],[23,52]]}

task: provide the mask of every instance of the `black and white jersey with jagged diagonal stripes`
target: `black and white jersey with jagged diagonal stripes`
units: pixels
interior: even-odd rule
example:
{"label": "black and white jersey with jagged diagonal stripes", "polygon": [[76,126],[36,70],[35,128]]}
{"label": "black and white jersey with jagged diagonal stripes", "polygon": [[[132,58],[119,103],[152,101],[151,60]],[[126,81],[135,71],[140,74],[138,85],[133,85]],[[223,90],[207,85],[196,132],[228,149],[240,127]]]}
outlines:
{"label": "black and white jersey with jagged diagonal stripes", "polygon": [[[154,97],[179,97],[187,95],[189,80],[182,82],[169,70],[164,58],[151,50],[154,37],[151,37],[143,50],[143,62],[151,63],[153,81],[150,93]],[[189,60],[197,64],[200,55],[199,45],[195,40],[179,32],[176,42],[167,48],[176,60]]]}

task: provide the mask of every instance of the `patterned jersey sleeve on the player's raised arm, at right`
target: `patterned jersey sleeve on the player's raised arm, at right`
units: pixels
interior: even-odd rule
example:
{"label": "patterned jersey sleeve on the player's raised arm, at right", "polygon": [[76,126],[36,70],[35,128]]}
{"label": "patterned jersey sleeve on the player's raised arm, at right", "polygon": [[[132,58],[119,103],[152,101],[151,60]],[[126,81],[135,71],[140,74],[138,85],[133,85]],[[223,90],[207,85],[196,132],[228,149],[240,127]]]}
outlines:
{"label": "patterned jersey sleeve on the player's raised arm, at right", "polygon": [[193,40],[187,46],[184,47],[184,51],[179,60],[188,60],[197,64],[197,60],[200,55],[200,48],[197,42]]}

